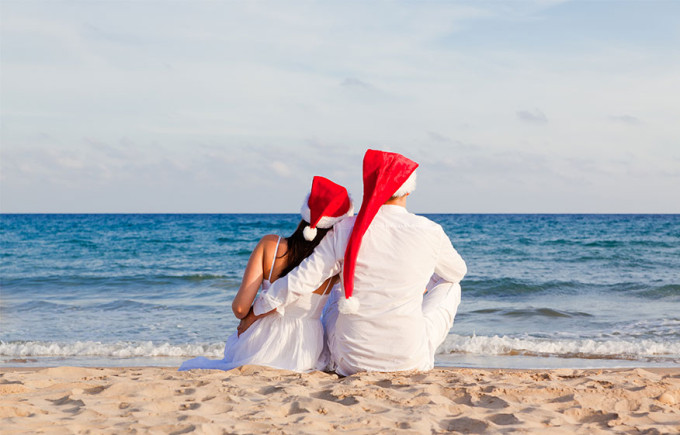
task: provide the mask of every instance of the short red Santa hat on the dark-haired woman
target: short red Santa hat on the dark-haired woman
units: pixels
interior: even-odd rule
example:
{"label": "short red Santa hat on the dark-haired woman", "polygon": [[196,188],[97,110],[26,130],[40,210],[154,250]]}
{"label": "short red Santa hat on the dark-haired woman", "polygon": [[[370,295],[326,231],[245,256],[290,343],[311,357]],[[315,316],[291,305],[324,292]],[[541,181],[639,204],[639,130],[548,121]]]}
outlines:
{"label": "short red Santa hat on the dark-haired woman", "polygon": [[317,228],[330,228],[347,216],[352,216],[354,205],[347,189],[328,178],[317,176],[312,180],[312,190],[305,198],[300,214],[302,219],[309,222],[302,230],[302,235],[311,242],[316,238]]}

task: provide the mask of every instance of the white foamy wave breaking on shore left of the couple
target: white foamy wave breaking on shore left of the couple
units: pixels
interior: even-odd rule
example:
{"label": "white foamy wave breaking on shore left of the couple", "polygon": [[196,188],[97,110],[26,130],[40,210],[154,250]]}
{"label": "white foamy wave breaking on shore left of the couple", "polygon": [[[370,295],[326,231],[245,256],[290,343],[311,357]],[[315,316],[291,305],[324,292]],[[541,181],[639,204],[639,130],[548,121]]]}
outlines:
{"label": "white foamy wave breaking on shore left of the couple", "polygon": [[193,357],[221,358],[224,342],[199,344],[171,344],[144,342],[74,343],[46,341],[0,341],[0,356],[4,357]]}

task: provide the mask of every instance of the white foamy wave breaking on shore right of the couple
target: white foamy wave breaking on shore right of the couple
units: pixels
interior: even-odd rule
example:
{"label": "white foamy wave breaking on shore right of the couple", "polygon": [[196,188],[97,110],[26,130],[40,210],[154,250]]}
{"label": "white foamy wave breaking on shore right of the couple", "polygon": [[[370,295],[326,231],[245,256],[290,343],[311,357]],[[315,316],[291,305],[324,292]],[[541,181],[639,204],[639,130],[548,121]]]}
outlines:
{"label": "white foamy wave breaking on shore right of the couple", "polygon": [[439,353],[537,356],[582,359],[680,361],[680,342],[655,340],[592,339],[549,340],[494,335],[449,335]]}

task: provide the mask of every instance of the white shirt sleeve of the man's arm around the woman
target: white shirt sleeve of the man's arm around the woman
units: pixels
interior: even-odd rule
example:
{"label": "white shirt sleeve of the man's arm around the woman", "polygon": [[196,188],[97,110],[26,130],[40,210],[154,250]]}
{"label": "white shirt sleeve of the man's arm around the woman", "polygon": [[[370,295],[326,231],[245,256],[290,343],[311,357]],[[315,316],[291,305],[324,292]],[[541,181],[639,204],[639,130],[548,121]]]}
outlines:
{"label": "white shirt sleeve of the man's arm around the woman", "polygon": [[335,239],[335,231],[329,231],[312,255],[288,275],[274,281],[266,292],[262,292],[253,305],[255,315],[288,305],[301,295],[312,293],[326,279],[339,273],[344,251],[336,255]]}

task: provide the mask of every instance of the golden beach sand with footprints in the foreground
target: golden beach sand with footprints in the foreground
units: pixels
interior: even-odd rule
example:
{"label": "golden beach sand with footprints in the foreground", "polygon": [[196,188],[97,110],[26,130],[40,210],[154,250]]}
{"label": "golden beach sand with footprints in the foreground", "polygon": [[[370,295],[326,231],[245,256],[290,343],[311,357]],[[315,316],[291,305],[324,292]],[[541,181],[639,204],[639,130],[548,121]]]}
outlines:
{"label": "golden beach sand with footprints in the foreground", "polygon": [[0,369],[0,433],[680,433],[680,368]]}

